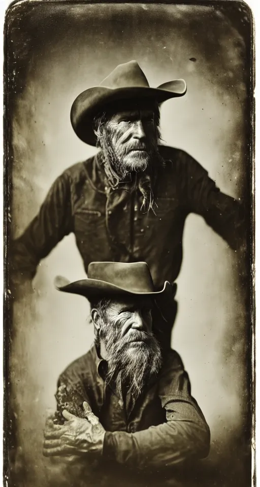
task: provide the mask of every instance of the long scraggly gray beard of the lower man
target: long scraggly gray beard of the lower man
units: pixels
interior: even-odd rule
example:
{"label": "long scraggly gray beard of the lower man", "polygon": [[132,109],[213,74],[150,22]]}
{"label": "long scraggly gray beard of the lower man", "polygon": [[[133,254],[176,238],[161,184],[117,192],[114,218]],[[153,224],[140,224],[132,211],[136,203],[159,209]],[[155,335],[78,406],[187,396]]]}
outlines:
{"label": "long scraggly gray beard of the lower man", "polygon": [[[107,336],[106,351],[108,361],[107,384],[113,384],[118,396],[126,387],[134,399],[143,391],[152,376],[158,374],[161,367],[161,351],[152,333],[133,331],[131,337],[145,341],[129,343],[127,338],[115,339],[116,332]],[[130,346],[131,345],[131,346]]]}

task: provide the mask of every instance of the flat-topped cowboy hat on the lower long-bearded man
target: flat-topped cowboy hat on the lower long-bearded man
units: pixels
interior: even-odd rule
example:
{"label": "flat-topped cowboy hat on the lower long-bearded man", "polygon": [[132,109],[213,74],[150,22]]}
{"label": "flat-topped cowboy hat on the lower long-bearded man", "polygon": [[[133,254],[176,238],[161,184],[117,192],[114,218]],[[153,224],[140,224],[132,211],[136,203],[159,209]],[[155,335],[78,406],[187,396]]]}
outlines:
{"label": "flat-topped cowboy hat on the lower long-bearded man", "polygon": [[91,262],[87,279],[70,283],[64,277],[55,278],[59,291],[80,294],[91,301],[96,296],[154,296],[173,298],[177,285],[165,282],[161,291],[154,291],[152,276],[146,262]]}

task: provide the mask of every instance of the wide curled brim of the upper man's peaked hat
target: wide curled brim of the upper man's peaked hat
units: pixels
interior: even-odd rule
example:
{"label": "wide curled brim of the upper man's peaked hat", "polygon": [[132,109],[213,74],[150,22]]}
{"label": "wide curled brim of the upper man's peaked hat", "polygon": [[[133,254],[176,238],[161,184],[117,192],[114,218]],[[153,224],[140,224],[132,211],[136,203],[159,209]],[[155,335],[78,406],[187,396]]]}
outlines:
{"label": "wide curled brim of the upper man's peaked hat", "polygon": [[78,137],[89,144],[96,145],[96,135],[93,131],[93,118],[105,109],[105,106],[118,100],[151,98],[159,104],[170,98],[183,96],[187,87],[184,80],[173,80],[160,85],[158,88],[125,87],[106,88],[96,86],[89,88],[77,96],[71,109],[71,123]]}

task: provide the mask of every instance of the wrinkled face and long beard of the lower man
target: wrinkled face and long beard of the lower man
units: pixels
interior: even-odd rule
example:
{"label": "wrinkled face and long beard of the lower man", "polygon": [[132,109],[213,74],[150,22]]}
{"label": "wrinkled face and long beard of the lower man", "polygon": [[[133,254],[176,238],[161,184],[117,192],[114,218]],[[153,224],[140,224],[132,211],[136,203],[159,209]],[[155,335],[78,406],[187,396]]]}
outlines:
{"label": "wrinkled face and long beard of the lower man", "polygon": [[[99,337],[106,348],[107,380],[118,394],[126,384],[137,397],[161,366],[159,344],[152,333],[153,301],[144,296],[112,300],[99,318]],[[97,311],[96,311],[97,312]]]}

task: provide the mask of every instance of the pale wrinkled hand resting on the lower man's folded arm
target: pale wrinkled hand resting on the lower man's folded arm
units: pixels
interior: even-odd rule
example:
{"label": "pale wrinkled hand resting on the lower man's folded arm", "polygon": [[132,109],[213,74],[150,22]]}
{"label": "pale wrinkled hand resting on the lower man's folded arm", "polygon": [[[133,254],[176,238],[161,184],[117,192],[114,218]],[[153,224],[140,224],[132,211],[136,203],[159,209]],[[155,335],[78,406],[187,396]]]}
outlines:
{"label": "pale wrinkled hand resting on the lower man's folded arm", "polygon": [[106,432],[86,402],[83,402],[83,408],[86,419],[78,418],[66,409],[62,411],[67,420],[64,425],[55,425],[54,416],[47,418],[43,444],[45,457],[102,454]]}

